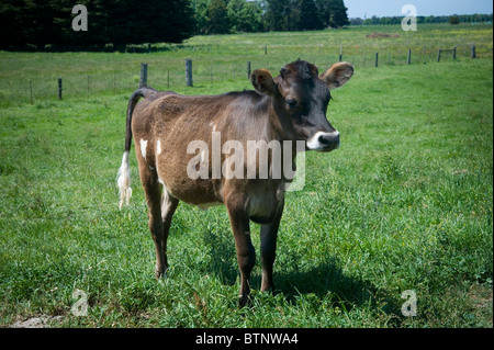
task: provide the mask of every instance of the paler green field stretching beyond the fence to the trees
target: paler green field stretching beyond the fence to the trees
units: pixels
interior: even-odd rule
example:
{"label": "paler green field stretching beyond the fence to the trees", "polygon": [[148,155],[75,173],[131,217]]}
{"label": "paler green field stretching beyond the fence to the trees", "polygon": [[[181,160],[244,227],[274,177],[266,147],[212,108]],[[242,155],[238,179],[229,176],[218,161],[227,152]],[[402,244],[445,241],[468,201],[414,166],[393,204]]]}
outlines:
{"label": "paler green field stretching beyond the fence to the trees", "polygon": [[[368,38],[371,33],[397,35]],[[297,58],[321,67],[343,59],[358,69],[379,65],[406,64],[412,50],[412,65],[436,63],[439,48],[457,48],[458,60],[469,59],[471,45],[479,57],[492,58],[492,25],[419,25],[416,32],[403,32],[397,25],[352,26],[346,30],[290,33],[252,33],[195,36],[183,45],[158,45],[164,52],[151,54],[120,53],[5,53],[0,52],[0,106],[30,102],[30,81],[34,101],[57,98],[57,78],[64,81],[64,97],[88,98],[130,93],[138,84],[141,63],[149,65],[149,84],[158,89],[184,90],[184,59],[193,59],[194,93],[209,93],[225,81],[247,79],[247,61],[251,69],[281,66]],[[267,47],[267,55],[265,54]],[[130,49],[132,50],[132,48]],[[452,60],[445,54],[442,61]]]}

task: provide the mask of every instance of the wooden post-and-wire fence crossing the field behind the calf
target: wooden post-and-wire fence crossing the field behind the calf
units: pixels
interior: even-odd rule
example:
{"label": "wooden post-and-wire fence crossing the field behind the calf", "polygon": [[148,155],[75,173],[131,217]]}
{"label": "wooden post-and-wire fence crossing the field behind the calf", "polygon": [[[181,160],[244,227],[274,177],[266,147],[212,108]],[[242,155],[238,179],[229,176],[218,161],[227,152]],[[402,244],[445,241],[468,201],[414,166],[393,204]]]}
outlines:
{"label": "wooden post-and-wire fence crossing the field behind the calf", "polygon": [[[101,71],[94,66],[88,66],[90,72],[85,72],[83,67],[74,70],[68,66],[58,71],[56,76],[34,77],[22,79],[2,79],[0,81],[0,103],[9,101],[34,103],[41,100],[91,98],[101,93],[130,94],[138,86],[147,82],[160,90],[177,90],[186,92],[186,87],[198,88],[199,93],[207,93],[207,88],[218,81],[243,81],[239,87],[250,89],[248,77],[251,70],[267,68],[276,72],[279,68],[297,58],[308,60],[319,69],[326,69],[335,61],[350,61],[356,69],[375,68],[382,66],[428,64],[437,61],[450,61],[456,59],[471,59],[479,56],[492,57],[492,47],[475,47],[473,45],[457,45],[453,48],[437,47],[379,47],[379,50],[359,46],[343,46],[328,49],[322,45],[301,47],[295,57],[283,55],[282,47],[259,47],[250,57],[231,55],[224,56],[215,53],[215,47],[186,47],[182,55],[167,57],[162,54],[125,54],[124,65],[115,63],[106,64]],[[217,50],[224,50],[217,48]],[[292,50],[293,52],[293,50]],[[292,53],[293,54],[293,53]],[[193,57],[184,59],[184,56]],[[146,56],[146,57],[143,57]],[[187,57],[186,56],[186,57]],[[194,57],[195,56],[195,57]],[[138,75],[137,60],[146,60],[148,65],[142,68]],[[186,64],[184,64],[186,61]],[[149,68],[148,68],[149,67]],[[148,81],[148,69],[151,79]]]}

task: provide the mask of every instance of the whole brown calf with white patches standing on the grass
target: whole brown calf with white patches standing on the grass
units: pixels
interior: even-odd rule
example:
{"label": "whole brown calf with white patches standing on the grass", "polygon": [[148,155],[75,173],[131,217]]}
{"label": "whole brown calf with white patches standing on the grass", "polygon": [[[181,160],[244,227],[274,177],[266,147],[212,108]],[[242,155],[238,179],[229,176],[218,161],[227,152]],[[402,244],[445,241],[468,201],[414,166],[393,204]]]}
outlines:
{"label": "whole brown calf with white patches standing on the grass", "polygon": [[[218,95],[181,95],[149,87],[134,91],[127,106],[125,149],[117,174],[120,208],[124,202],[128,204],[132,195],[128,157],[134,138],[156,248],[157,279],[168,269],[167,238],[177,205],[183,201],[201,208],[226,206],[240,270],[240,307],[249,301],[249,276],[256,259],[249,223],[260,224],[260,289],[274,290],[277,235],[291,181],[273,176],[273,168],[279,166],[274,163],[274,147],[268,149],[268,174],[252,178],[238,172],[232,176],[228,166],[223,166],[226,173],[221,174],[213,167],[201,168],[214,162],[215,155],[195,154],[197,148],[191,149],[190,144],[198,140],[214,148],[213,136],[221,133],[223,150],[228,140],[237,140],[244,147],[249,140],[302,140],[302,151],[332,151],[339,146],[339,133],[326,118],[329,91],[344,86],[352,75],[349,63],[337,63],[319,75],[315,65],[296,60],[283,66],[276,78],[267,69],[254,71],[250,81],[255,90]],[[137,103],[139,99],[144,100]],[[295,147],[281,149],[283,159],[291,161],[297,151]],[[221,159],[224,165],[226,156],[216,156],[216,162]],[[198,161],[191,166],[192,158]],[[260,160],[245,160],[245,167],[254,167],[254,172],[259,173]],[[190,176],[191,170],[201,170],[200,176]]]}

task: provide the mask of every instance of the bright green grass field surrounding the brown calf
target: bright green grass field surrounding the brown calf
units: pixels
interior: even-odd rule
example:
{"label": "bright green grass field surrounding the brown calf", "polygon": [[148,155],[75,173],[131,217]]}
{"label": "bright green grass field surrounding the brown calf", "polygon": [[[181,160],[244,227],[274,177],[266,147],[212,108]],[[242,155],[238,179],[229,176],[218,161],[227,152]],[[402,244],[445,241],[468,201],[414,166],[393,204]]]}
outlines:
{"label": "bright green grass field surrounding the brown calf", "polygon": [[[40,315],[61,316],[56,327],[492,327],[487,48],[474,60],[407,66],[390,58],[379,68],[362,65],[355,52],[356,75],[329,106],[341,147],[306,155],[305,188],[288,194],[280,227],[277,294],[258,292],[258,256],[251,307],[237,308],[238,269],[224,207],[180,204],[168,242],[170,271],[159,282],[135,156],[131,206],[119,211],[124,114],[141,61],[149,63],[157,88],[166,89],[160,67],[170,64],[177,66],[173,90],[221,93],[249,88],[245,70],[233,64],[245,69],[250,59],[255,69],[272,57],[274,70],[301,57],[324,69],[340,42],[358,45],[352,34],[367,43],[364,31],[195,37],[143,55],[0,53],[0,327]],[[468,37],[492,47],[492,25],[446,31],[419,27],[417,35],[436,35],[444,47]],[[313,55],[303,49],[317,35],[340,35],[332,57],[322,59],[325,46]],[[372,45],[391,52],[390,41]],[[265,57],[265,42],[281,44]],[[243,50],[250,48],[257,56]],[[179,74],[186,57],[209,59],[194,66],[194,88],[184,88]],[[217,63],[213,79],[210,63]],[[57,101],[60,72],[71,83]],[[89,95],[88,75],[94,81]],[[19,81],[29,89],[29,80],[47,78],[55,80],[36,90],[31,104]],[[251,228],[259,255],[259,227]],[[76,290],[88,297],[87,316],[70,311]],[[401,295],[409,290],[414,317],[402,314]]]}

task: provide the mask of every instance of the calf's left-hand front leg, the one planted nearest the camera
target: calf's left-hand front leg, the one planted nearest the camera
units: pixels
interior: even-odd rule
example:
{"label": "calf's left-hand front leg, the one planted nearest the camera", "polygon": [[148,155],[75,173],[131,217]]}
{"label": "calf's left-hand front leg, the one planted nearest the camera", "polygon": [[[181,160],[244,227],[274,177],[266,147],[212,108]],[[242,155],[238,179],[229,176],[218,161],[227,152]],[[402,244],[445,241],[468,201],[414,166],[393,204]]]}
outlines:
{"label": "calf's left-hand front leg, the one planted nearest the camera", "polygon": [[249,278],[256,262],[256,251],[250,240],[249,216],[245,210],[244,201],[226,202],[232,230],[235,237],[238,268],[240,269],[240,295],[239,305],[248,302],[250,287]]}

